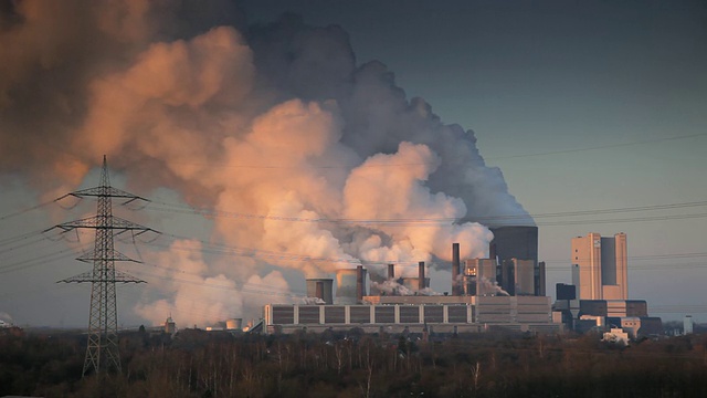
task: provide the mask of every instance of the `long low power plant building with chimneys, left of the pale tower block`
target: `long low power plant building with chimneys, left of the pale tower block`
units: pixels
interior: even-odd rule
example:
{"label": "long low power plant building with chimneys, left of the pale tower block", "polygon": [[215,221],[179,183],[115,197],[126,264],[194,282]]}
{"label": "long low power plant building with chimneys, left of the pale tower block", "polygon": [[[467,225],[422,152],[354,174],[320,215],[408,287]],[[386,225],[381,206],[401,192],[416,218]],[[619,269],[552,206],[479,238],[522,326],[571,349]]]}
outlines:
{"label": "long low power plant building with chimneys, left of the pale tower block", "polygon": [[[530,242],[537,245],[537,229],[535,235]],[[504,243],[510,247],[509,242]],[[521,244],[515,245],[517,249]],[[537,292],[536,260],[507,259],[506,271],[514,275],[513,290],[523,293],[511,295],[498,285],[503,266],[496,259],[466,259],[462,263],[458,243],[452,245],[452,259],[451,295],[430,292],[424,262],[419,263],[416,277],[395,277],[395,265],[389,264],[383,281],[367,277],[366,269],[359,265],[337,270],[336,285],[334,279],[307,280],[307,295],[314,298],[307,300],[308,304],[265,305],[265,329],[267,333],[354,327],[369,333],[471,333],[498,327],[536,333],[560,331],[561,324],[551,318],[550,297],[527,294]]]}

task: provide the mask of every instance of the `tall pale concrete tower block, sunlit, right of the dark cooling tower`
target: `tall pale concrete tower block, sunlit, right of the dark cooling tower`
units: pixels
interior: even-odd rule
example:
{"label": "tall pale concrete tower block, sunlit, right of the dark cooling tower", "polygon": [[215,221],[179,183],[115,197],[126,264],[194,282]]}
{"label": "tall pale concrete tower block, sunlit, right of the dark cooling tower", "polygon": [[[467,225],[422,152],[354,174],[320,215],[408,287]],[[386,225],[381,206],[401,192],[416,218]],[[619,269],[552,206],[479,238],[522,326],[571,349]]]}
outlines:
{"label": "tall pale concrete tower block, sunlit, right of the dark cooling tower", "polygon": [[580,300],[626,300],[626,234],[572,238],[572,283]]}

